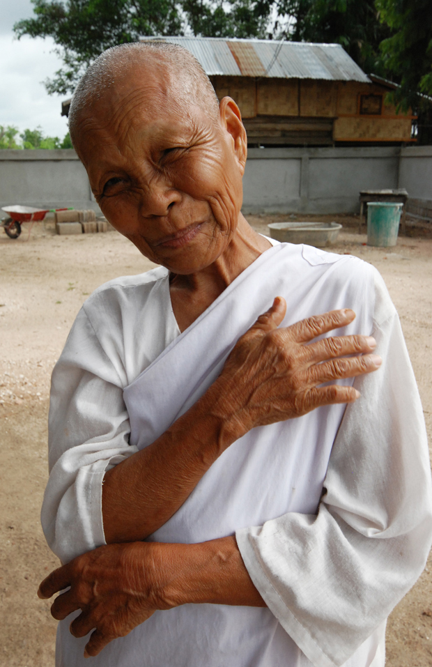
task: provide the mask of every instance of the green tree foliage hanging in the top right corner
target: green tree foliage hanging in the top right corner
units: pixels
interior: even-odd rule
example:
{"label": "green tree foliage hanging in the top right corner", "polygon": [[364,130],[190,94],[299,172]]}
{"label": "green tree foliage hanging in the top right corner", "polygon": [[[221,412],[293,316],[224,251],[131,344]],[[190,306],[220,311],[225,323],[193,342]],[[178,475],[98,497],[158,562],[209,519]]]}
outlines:
{"label": "green tree foliage hanging in the top right corner", "polygon": [[422,109],[432,95],[432,2],[431,0],[376,0],[380,20],[392,29],[383,40],[383,63],[399,82],[392,97],[404,110]]}

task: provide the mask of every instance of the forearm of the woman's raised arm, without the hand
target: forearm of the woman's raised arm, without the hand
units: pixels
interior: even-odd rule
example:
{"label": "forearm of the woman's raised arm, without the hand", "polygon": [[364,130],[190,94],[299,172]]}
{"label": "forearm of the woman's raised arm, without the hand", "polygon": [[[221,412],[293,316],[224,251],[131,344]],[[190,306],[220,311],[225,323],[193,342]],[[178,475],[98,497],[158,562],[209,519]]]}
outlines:
{"label": "forearm of the woman's raised arm, without the hand", "polygon": [[163,526],[214,461],[244,430],[220,383],[180,417],[152,445],[105,473],[102,516],[105,539],[141,540]]}

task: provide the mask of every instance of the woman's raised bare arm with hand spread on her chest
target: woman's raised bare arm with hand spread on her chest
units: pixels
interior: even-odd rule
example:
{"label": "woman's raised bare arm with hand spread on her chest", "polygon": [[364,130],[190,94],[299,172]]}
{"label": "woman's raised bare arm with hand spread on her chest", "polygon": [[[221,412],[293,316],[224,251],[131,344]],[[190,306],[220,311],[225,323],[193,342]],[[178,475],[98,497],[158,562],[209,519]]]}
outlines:
{"label": "woman's raised bare arm with hand spread on her chest", "polygon": [[[378,368],[366,336],[315,337],[353,321],[334,311],[277,329],[284,299],[240,338],[222,374],[206,394],[144,450],[109,470],[102,486],[107,543],[144,539],[185,502],[217,457],[250,429],[304,415],[314,408],[355,401],[350,387],[318,385]],[[362,356],[341,358],[363,353]]]}

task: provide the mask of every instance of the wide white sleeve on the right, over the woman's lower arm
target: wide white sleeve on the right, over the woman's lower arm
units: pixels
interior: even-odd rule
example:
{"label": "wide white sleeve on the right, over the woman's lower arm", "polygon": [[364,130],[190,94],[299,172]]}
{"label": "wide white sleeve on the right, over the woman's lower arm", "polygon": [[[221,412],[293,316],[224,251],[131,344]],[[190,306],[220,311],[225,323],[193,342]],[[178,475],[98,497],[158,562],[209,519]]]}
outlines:
{"label": "wide white sleeve on the right, over the woman's lower arm", "polygon": [[[318,515],[237,532],[252,581],[316,667],[343,664],[424,568],[432,498],[422,405],[399,318],[376,277],[380,370],[357,378]],[[384,319],[383,319],[384,317]]]}

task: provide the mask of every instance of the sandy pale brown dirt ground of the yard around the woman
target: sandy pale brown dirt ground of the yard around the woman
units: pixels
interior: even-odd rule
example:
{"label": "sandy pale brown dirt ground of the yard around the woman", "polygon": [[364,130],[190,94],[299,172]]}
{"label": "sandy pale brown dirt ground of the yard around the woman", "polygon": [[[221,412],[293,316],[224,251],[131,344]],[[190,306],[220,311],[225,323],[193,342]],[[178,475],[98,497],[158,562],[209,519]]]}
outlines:
{"label": "sandy pale brown dirt ground of the yard around the woman", "polygon": [[[283,219],[249,216],[263,233],[268,222]],[[365,245],[354,216],[314,219],[342,222],[332,250],[373,263],[385,278],[401,316],[431,441],[431,234],[410,232],[386,250]],[[36,225],[29,238],[25,225],[18,240],[0,234],[0,667],[54,666],[56,622],[49,602],[36,597],[39,581],[58,565],[39,523],[52,367],[88,294],[111,278],[151,266],[114,231],[56,236],[47,222]],[[431,665],[432,562],[392,613],[387,631],[388,667]]]}

